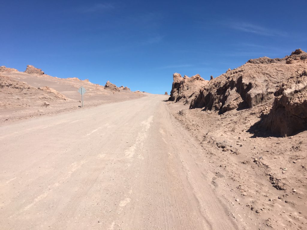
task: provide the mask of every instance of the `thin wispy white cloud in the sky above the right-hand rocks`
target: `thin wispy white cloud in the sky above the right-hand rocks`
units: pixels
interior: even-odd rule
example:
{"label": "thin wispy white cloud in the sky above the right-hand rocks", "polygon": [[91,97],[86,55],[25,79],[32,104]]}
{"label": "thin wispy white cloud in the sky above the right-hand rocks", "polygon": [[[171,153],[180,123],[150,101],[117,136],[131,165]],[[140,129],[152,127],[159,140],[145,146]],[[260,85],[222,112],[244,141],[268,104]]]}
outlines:
{"label": "thin wispy white cloud in the sky above the right-hand rocks", "polygon": [[254,33],[262,36],[282,36],[285,37],[288,34],[285,31],[279,31],[276,29],[266,28],[260,25],[251,24],[248,22],[231,22],[226,25],[232,29],[243,31],[246,33]]}

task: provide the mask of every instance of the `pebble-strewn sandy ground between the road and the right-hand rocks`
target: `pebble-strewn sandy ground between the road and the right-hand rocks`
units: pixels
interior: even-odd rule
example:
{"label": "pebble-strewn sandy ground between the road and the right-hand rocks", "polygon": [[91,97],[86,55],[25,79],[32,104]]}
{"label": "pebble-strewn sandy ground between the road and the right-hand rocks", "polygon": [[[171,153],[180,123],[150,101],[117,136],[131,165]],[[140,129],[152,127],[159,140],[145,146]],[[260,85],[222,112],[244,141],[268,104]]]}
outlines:
{"label": "pebble-strewn sandy ground between the road and the right-hand rocks", "polygon": [[247,229],[307,229],[307,131],[275,137],[252,128],[266,105],[218,111],[167,102],[203,148],[216,193]]}

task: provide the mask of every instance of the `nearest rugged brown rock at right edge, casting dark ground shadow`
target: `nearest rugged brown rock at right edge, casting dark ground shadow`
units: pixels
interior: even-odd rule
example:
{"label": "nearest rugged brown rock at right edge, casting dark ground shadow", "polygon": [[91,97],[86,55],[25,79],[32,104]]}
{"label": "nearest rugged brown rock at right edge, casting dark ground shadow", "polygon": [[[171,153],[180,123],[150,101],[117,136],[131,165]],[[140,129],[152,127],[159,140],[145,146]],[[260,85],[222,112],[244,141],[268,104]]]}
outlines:
{"label": "nearest rugged brown rock at right edge, casting dark ground shadow", "polygon": [[307,69],[296,71],[283,82],[262,126],[280,136],[307,128]]}

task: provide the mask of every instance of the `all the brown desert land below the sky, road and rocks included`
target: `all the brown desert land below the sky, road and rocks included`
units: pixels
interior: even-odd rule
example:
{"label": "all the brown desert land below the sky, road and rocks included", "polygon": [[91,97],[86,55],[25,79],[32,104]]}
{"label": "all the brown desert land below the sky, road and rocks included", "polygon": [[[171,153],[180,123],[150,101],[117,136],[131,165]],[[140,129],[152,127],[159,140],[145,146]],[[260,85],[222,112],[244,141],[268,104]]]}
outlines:
{"label": "all the brown desert land below the sky, road and rocks included", "polygon": [[162,95],[0,67],[0,229],[307,229],[306,69],[298,49]]}

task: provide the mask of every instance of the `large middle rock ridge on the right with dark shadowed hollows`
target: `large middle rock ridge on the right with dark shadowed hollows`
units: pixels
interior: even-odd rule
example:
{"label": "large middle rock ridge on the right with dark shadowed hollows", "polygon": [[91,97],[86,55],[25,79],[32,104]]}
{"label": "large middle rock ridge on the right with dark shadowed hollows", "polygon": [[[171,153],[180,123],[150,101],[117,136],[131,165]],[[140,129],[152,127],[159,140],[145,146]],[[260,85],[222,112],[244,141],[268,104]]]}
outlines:
{"label": "large middle rock ridge on the right with dark shadowed hollows", "polygon": [[[192,99],[190,108],[219,110],[251,108],[274,98],[278,85],[300,68],[307,67],[306,55],[296,50],[283,59],[251,59],[243,66],[210,80]],[[291,64],[286,64],[291,60]]]}

